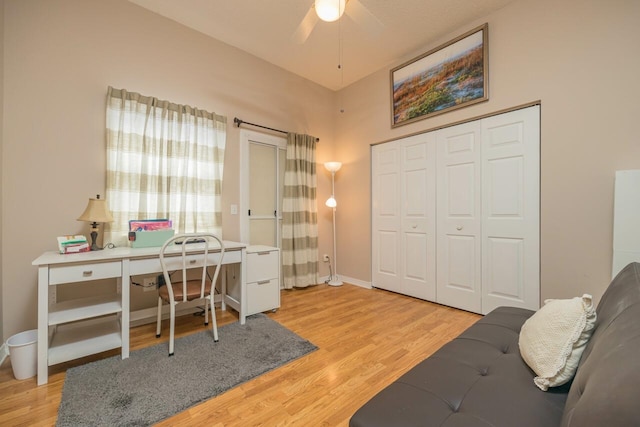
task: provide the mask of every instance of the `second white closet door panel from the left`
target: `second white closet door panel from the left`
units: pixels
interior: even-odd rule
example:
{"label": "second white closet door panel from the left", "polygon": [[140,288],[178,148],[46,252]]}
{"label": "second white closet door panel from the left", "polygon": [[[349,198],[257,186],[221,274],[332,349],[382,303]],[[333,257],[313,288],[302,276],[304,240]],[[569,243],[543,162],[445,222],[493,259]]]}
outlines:
{"label": "second white closet door panel from the left", "polygon": [[435,144],[432,134],[401,140],[401,292],[435,301]]}

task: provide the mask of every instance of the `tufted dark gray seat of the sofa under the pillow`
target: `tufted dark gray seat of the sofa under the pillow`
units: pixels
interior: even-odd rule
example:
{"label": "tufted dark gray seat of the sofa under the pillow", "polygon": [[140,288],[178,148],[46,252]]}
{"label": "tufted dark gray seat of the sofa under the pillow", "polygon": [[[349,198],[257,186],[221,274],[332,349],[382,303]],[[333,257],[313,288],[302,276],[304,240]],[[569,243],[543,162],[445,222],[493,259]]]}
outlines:
{"label": "tufted dark gray seat of the sofa under the pillow", "polygon": [[530,310],[500,307],[360,408],[352,427],[558,425],[568,389],[542,392],[520,357]]}

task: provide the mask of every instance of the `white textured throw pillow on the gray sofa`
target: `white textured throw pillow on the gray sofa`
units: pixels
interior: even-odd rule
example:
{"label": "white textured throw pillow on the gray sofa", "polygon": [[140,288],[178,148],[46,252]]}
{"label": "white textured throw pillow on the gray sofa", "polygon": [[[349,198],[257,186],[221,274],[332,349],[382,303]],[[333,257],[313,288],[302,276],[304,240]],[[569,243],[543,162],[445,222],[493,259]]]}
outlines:
{"label": "white textured throw pillow on the gray sofa", "polygon": [[536,373],[533,382],[546,391],[568,382],[578,369],[596,323],[591,295],[546,300],[522,325],[520,354]]}

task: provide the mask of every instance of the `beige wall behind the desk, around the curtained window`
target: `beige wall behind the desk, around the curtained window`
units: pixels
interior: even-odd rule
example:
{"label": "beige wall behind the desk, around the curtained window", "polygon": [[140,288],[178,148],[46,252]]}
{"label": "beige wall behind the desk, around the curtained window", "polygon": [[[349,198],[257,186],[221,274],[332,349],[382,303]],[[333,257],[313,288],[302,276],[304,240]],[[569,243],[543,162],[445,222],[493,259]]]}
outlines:
{"label": "beige wall behind the desk, around the curtained window", "polygon": [[[9,0],[4,14],[5,337],[36,327],[31,261],[56,236],[89,232],[76,218],[104,194],[107,86],[227,116],[226,239],[239,238],[234,116],[318,136],[328,160],[335,94],[316,84],[124,0]],[[319,186],[326,198],[329,179]]]}

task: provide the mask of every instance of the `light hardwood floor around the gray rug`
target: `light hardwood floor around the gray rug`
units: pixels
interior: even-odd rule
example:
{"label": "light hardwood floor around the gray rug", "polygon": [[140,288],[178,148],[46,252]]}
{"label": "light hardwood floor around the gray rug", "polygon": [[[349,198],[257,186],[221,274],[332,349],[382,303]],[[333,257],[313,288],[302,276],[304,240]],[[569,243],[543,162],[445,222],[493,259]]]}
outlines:
{"label": "light hardwood floor around the gray rug", "polygon": [[[218,325],[237,321],[216,310]],[[480,316],[382,290],[345,284],[282,291],[269,317],[319,349],[235,387],[158,426],[347,426],[353,413]],[[165,322],[166,323],[166,322]],[[163,337],[168,339],[168,323]],[[202,318],[183,316],[176,336],[204,328]],[[157,344],[155,325],[131,329],[131,350]],[[55,425],[65,370],[102,353],[49,369],[49,382],[17,381],[8,359],[0,367],[0,425]]]}

